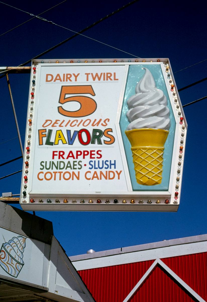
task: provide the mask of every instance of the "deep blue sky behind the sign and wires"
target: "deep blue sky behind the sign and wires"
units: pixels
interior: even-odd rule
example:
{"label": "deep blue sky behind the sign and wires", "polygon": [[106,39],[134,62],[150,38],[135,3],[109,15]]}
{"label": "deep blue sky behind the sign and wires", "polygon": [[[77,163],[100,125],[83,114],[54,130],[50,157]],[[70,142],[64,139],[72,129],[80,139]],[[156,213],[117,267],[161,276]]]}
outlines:
{"label": "deep blue sky behind the sign and wires", "polygon": [[[42,1],[7,1],[9,5],[34,15],[58,4]],[[128,1],[94,3],[66,2],[41,16],[63,27],[80,31]],[[168,57],[176,85],[182,88],[206,77],[206,20],[201,4],[187,1],[137,1],[84,34],[138,57]],[[0,3],[0,35],[32,18]],[[40,19],[0,36],[0,65],[18,66],[42,53],[73,33]],[[119,50],[86,37],[73,40],[42,56],[42,59],[61,58],[128,58]],[[28,64],[30,66],[30,64]],[[180,69],[184,69],[179,71]],[[179,71],[179,72],[178,72]],[[24,144],[29,74],[10,75],[20,134]],[[0,79],[0,162],[21,156],[6,78]],[[182,104],[206,96],[206,82],[180,92]],[[177,213],[125,212],[36,212],[51,220],[54,235],[67,255],[131,246],[164,239],[207,233],[205,200],[206,189],[206,100],[184,108],[188,123],[184,172],[180,206]],[[15,139],[13,139],[15,138]],[[0,177],[22,169],[22,159],[0,167]],[[21,173],[0,180],[2,192],[20,192]]]}

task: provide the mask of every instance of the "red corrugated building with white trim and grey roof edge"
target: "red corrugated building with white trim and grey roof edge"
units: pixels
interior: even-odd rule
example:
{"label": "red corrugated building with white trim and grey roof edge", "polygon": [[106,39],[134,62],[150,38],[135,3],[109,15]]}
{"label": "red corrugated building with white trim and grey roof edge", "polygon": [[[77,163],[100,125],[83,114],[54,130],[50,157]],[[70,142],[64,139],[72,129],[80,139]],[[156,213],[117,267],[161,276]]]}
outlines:
{"label": "red corrugated building with white trim and grey roof edge", "polygon": [[207,301],[207,234],[70,259],[97,302]]}

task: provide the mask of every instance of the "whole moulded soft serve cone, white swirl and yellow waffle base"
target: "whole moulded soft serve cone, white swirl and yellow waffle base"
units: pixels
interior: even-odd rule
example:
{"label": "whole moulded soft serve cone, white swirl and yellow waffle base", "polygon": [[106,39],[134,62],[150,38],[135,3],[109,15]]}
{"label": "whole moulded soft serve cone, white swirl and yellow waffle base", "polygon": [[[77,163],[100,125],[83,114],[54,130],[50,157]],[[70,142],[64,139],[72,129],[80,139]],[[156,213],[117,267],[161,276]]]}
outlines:
{"label": "whole moulded soft serve cone, white swirl and yellow waffle base", "polygon": [[156,87],[147,68],[128,99],[127,118],[130,124],[125,131],[134,162],[137,183],[158,185],[162,182],[164,144],[170,128],[169,109],[163,91]]}

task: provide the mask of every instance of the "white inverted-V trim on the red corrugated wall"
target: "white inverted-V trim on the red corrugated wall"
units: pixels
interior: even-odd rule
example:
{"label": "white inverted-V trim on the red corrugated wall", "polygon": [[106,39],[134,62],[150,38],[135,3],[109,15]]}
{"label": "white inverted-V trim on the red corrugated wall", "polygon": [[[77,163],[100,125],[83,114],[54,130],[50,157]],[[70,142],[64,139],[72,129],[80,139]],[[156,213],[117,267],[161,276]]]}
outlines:
{"label": "white inverted-V trim on the red corrugated wall", "polygon": [[161,266],[172,278],[174,278],[183,288],[186,289],[196,300],[199,302],[206,302],[202,297],[199,296],[189,285],[187,285],[178,275],[174,273],[162,260],[156,259],[150,268],[146,271],[146,273],[142,276],[142,278],[137,282],[134,288],[130,291],[127,297],[123,300],[123,302],[128,302],[135,292],[142,286],[145,280],[149,277],[151,272],[156,268],[156,266]]}

